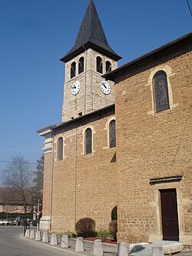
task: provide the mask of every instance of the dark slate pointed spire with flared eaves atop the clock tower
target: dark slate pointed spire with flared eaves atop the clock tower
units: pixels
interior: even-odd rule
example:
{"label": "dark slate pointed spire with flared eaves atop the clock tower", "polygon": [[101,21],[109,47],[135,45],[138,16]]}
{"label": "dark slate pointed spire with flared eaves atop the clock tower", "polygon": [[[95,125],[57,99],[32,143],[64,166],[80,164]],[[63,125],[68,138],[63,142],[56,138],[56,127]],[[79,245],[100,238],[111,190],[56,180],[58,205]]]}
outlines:
{"label": "dark slate pointed spire with flared eaves atop the clock tower", "polygon": [[71,51],[68,52],[67,55],[61,58],[61,61],[68,62],[71,58],[74,58],[74,56],[84,52],[84,48],[94,48],[96,51],[108,55],[115,61],[121,58],[108,45],[93,0],[89,1],[73,48],[71,48]]}

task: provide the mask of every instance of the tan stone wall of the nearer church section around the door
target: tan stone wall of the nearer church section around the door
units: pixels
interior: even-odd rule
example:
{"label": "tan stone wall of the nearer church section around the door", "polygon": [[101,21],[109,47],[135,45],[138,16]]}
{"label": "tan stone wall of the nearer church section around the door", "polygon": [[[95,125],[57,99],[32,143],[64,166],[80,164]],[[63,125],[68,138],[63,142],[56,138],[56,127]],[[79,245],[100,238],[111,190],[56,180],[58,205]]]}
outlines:
{"label": "tan stone wall of the nearer church section around the door", "polygon": [[[187,53],[115,85],[119,241],[150,241],[158,232],[162,239],[150,178],[183,175],[177,184],[180,241],[192,244],[191,64]],[[170,72],[173,108],[153,115],[149,78],[158,69]]]}

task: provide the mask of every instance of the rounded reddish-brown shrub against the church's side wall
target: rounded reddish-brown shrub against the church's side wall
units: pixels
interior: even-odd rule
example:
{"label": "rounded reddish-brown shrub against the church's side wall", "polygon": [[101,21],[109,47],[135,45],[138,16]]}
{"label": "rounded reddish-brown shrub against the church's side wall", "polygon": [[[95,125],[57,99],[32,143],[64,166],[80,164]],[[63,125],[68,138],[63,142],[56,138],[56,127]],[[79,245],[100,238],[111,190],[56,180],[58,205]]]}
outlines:
{"label": "rounded reddish-brown shrub against the church's side wall", "polygon": [[95,222],[92,218],[81,218],[76,222],[74,229],[78,234],[78,237],[92,237],[95,232]]}

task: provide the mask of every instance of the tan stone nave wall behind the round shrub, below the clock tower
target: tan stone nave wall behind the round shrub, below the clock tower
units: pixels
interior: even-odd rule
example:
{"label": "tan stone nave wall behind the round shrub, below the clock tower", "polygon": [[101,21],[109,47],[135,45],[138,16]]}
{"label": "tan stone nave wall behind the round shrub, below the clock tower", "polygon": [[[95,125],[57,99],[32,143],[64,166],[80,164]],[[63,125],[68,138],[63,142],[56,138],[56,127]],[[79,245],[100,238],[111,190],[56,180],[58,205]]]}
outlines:
{"label": "tan stone nave wall behind the round shrub, below the clock tower", "polygon": [[[116,148],[108,147],[108,124],[114,115],[55,135],[52,231],[74,231],[80,218],[93,218],[108,230],[118,200]],[[93,152],[84,154],[84,131],[93,131]],[[64,159],[57,161],[57,140],[64,138]]]}

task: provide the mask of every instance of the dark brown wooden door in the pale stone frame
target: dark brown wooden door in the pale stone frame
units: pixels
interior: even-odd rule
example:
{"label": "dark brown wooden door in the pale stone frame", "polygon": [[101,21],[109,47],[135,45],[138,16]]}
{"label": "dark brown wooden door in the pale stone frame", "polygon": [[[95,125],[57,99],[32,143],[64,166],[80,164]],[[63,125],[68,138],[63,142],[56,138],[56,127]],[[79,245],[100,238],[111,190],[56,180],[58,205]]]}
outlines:
{"label": "dark brown wooden door in the pale stone frame", "polygon": [[176,189],[162,189],[160,192],[163,240],[179,241]]}

